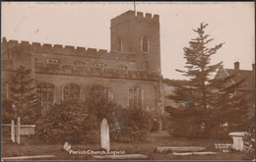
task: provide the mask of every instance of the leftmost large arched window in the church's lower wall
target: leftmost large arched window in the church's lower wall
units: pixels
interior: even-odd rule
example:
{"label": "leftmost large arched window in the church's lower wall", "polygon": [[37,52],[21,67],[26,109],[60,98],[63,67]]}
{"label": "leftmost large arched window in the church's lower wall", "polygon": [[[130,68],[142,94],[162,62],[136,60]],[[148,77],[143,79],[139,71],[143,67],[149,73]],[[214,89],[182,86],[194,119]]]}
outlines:
{"label": "leftmost large arched window in the church's lower wall", "polygon": [[49,108],[54,101],[54,85],[47,82],[42,82],[36,85],[37,98],[43,108]]}

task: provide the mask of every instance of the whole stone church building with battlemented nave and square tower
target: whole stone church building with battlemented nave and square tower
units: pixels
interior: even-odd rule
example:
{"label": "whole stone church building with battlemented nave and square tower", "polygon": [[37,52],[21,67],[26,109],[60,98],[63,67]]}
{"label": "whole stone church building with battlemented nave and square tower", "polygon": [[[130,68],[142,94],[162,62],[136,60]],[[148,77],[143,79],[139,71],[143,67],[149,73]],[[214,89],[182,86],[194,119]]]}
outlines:
{"label": "whole stone church building with battlemented nave and square tower", "polygon": [[97,84],[123,107],[163,111],[159,15],[127,11],[111,19],[110,50],[3,38],[2,97],[20,66],[32,70],[43,108],[84,99]]}

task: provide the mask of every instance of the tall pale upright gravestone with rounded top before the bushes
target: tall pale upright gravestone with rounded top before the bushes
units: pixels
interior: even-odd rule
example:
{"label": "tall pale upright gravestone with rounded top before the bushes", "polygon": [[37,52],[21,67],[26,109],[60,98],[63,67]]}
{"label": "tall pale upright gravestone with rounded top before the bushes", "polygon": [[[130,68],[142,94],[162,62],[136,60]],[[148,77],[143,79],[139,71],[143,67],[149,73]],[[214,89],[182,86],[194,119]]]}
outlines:
{"label": "tall pale upright gravestone with rounded top before the bushes", "polygon": [[110,150],[109,127],[106,119],[103,119],[100,125],[100,139],[101,139],[101,148],[109,151]]}

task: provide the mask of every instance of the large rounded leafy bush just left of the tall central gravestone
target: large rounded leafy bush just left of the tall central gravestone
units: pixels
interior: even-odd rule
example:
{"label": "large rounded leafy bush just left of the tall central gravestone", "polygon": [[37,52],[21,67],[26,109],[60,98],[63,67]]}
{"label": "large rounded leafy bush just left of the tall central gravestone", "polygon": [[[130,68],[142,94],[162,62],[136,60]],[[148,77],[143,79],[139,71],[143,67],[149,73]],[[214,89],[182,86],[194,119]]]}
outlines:
{"label": "large rounded leafy bush just left of the tall central gravestone", "polygon": [[78,101],[63,102],[43,112],[37,121],[36,135],[46,142],[80,140],[96,127],[94,116],[89,116],[83,104]]}

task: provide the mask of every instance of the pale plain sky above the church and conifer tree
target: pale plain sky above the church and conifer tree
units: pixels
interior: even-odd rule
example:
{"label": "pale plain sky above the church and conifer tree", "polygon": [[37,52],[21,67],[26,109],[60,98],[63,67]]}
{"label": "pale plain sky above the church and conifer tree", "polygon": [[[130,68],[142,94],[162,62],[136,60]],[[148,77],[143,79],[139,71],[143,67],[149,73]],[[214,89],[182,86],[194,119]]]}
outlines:
{"label": "pale plain sky above the church and conifer tree", "polygon": [[[253,2],[136,2],[136,11],[160,15],[160,57],[163,78],[185,79],[183,48],[202,22],[214,38],[209,47],[224,42],[212,63],[224,68],[251,70],[255,63]],[[7,40],[110,49],[110,20],[133,2],[2,2],[1,36]]]}

